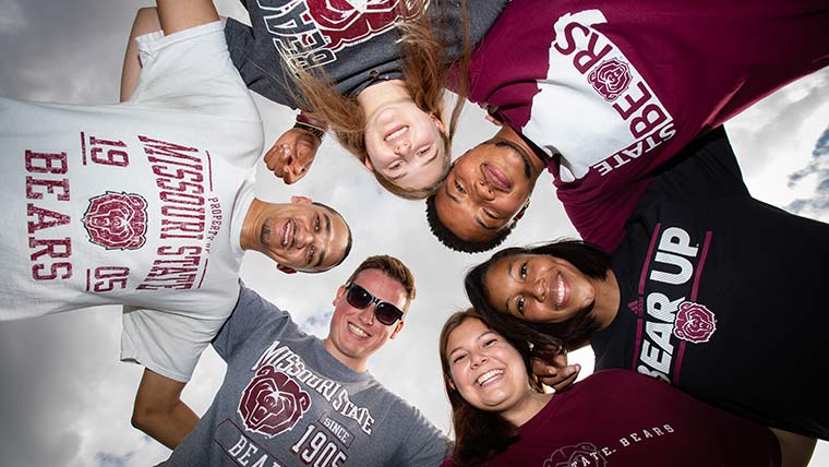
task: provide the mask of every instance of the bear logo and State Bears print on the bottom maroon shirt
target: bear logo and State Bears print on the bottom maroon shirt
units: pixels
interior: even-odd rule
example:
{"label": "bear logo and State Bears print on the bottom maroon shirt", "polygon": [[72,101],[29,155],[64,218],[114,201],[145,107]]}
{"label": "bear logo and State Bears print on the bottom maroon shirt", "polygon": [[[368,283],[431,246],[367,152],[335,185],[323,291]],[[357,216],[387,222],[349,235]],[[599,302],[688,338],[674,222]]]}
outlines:
{"label": "bear logo and State Bears print on the bottom maroon shirt", "polygon": [[613,445],[597,446],[594,443],[582,442],[555,450],[544,460],[542,467],[606,467],[613,466],[612,456],[620,450],[639,445],[662,436],[672,435],[676,431],[670,423],[633,430],[620,436]]}

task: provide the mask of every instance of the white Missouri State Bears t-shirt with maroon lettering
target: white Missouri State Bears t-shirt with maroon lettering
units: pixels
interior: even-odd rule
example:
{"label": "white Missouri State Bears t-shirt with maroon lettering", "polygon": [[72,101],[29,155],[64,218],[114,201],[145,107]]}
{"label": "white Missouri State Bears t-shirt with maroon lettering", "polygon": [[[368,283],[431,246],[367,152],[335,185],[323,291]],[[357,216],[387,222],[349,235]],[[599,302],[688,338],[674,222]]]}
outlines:
{"label": "white Missouri State Bears t-shirt with maroon lettering", "polygon": [[122,358],[187,380],[238,298],[264,134],[219,22],[136,40],[127,103],[0,99],[0,319],[165,310],[124,314]]}

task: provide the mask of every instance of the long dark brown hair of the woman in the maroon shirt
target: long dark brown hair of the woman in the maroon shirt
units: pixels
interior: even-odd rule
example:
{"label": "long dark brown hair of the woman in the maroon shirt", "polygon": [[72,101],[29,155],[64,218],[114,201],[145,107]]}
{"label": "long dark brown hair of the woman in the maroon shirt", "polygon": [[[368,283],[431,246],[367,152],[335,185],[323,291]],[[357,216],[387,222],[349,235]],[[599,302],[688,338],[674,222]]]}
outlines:
{"label": "long dark brown hair of the woman in the maroon shirt", "polygon": [[541,393],[541,383],[530,370],[530,347],[526,340],[515,340],[508,333],[490,326],[486,320],[474,309],[469,308],[454,313],[446,320],[441,330],[440,355],[443,369],[443,384],[452,406],[452,423],[455,429],[455,448],[452,463],[455,467],[467,467],[480,464],[486,458],[504,451],[518,440],[518,427],[507,421],[496,412],[481,410],[469,404],[460,393],[452,386],[452,368],[446,354],[449,335],[467,320],[480,320],[486,327],[502,335],[521,355],[527,368],[527,379],[530,387]]}

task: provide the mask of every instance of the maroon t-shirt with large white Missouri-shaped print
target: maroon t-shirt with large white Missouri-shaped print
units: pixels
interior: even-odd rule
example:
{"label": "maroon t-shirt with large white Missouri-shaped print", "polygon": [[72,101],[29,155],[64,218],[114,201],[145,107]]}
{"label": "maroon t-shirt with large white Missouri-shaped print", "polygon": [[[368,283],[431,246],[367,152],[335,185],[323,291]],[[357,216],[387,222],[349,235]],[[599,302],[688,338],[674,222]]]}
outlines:
{"label": "maroon t-shirt with large white Missouri-shaped print", "polygon": [[470,100],[548,155],[581,237],[612,251],[654,171],[829,63],[826,0],[514,0],[476,49]]}

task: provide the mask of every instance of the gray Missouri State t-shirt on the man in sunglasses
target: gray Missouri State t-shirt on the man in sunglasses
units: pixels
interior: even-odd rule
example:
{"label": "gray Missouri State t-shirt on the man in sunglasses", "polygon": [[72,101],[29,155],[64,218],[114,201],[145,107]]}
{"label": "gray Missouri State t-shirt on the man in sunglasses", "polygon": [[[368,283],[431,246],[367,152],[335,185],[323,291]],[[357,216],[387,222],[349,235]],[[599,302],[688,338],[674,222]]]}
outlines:
{"label": "gray Missouri State t-shirt on the man in sunglasses", "polygon": [[290,314],[242,287],[214,348],[228,363],[211,408],[163,466],[430,466],[448,440]]}

